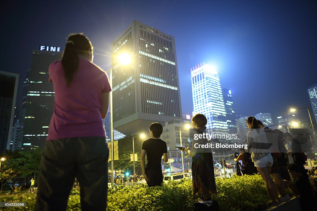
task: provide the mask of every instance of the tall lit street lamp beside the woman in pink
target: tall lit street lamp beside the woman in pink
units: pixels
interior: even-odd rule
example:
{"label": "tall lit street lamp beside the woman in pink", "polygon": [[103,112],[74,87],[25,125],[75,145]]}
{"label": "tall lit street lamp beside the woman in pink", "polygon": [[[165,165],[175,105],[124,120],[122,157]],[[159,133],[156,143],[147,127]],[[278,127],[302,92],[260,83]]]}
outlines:
{"label": "tall lit street lamp beside the woman in pink", "polygon": [[[121,64],[121,65],[128,65],[131,63],[131,55],[127,53],[122,53],[118,55],[117,57],[117,64],[114,66]],[[114,67],[113,66],[113,67]],[[111,67],[110,71],[110,86],[112,87],[112,69]],[[111,140],[111,185],[114,185],[114,177],[113,177],[113,95],[112,91],[110,92],[110,140]],[[134,155],[133,155],[134,156]]]}

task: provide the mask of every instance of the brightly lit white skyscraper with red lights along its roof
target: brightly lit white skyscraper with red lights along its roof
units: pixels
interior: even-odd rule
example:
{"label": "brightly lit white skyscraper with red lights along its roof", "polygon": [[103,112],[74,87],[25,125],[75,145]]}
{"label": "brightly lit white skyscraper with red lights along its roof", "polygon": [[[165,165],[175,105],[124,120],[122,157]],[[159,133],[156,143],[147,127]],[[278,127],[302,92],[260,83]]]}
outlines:
{"label": "brightly lit white skyscraper with red lights along its roof", "polygon": [[218,72],[208,64],[191,68],[191,87],[194,114],[207,118],[207,129],[215,133],[228,133],[226,109]]}

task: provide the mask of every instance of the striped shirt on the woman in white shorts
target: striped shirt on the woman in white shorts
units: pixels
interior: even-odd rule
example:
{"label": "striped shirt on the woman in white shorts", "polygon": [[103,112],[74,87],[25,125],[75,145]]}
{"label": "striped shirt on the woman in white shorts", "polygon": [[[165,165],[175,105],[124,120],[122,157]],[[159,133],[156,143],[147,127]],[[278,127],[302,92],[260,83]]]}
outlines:
{"label": "striped shirt on the woman in white shorts", "polygon": [[252,162],[267,156],[271,151],[269,150],[268,139],[263,129],[252,129],[247,133],[248,151],[252,149]]}

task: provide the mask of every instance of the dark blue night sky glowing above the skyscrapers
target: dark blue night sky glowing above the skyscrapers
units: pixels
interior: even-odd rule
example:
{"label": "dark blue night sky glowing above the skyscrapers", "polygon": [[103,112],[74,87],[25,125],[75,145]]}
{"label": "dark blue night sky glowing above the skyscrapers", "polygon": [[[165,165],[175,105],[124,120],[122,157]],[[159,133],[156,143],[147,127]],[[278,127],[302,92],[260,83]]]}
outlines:
{"label": "dark blue night sky glowing above the skyscrapers", "polygon": [[[0,70],[30,68],[40,45],[60,46],[83,32],[94,45],[94,63],[110,68],[111,42],[133,20],[171,34],[176,41],[184,114],[192,112],[191,67],[217,66],[231,89],[236,114],[283,115],[310,106],[317,83],[316,1],[5,1],[1,6]],[[307,112],[300,113],[307,118]]]}

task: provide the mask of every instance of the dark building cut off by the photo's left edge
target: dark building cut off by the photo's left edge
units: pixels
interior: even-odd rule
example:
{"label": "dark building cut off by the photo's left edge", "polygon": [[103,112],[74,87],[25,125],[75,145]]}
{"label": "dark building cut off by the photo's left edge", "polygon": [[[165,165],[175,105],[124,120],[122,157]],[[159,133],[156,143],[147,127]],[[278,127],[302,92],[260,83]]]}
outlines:
{"label": "dark building cut off by the photo's left edge", "polygon": [[0,155],[10,149],[19,75],[0,71]]}

